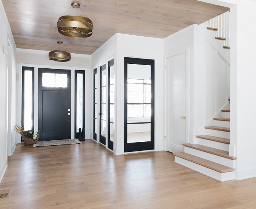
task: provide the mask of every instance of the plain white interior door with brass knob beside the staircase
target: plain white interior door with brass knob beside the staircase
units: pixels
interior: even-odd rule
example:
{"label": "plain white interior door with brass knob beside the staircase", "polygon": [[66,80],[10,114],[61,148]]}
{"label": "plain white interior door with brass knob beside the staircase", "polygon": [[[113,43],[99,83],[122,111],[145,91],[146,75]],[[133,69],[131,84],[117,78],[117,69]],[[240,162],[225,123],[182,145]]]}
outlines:
{"label": "plain white interior door with brass knob beside the staircase", "polygon": [[166,59],[166,151],[183,152],[186,139],[186,54]]}

